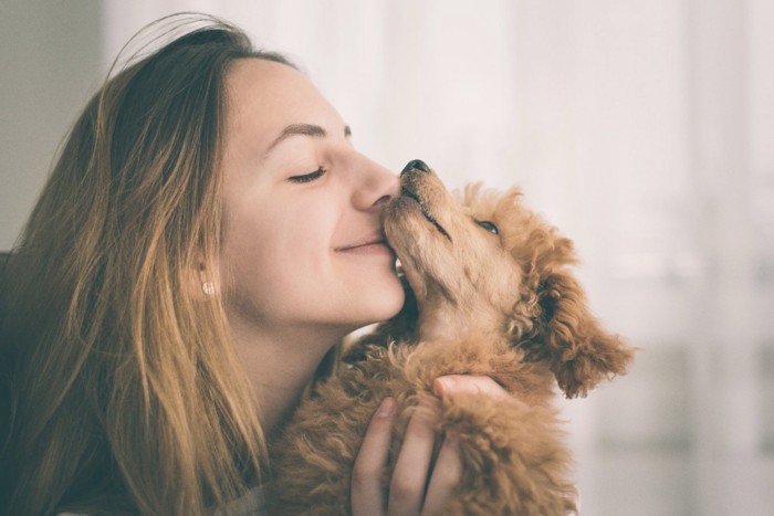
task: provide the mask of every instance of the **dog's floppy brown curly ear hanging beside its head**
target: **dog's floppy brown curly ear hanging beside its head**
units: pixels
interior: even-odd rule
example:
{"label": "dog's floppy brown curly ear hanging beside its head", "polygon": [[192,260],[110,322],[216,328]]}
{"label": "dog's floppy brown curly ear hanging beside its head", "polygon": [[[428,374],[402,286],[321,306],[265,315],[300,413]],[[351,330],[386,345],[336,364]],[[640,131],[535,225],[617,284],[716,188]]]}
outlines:
{"label": "dog's floppy brown curly ear hanging beside its head", "polygon": [[543,334],[540,344],[567,398],[585,397],[600,380],[626,372],[634,349],[602,328],[569,272],[543,277],[537,303]]}

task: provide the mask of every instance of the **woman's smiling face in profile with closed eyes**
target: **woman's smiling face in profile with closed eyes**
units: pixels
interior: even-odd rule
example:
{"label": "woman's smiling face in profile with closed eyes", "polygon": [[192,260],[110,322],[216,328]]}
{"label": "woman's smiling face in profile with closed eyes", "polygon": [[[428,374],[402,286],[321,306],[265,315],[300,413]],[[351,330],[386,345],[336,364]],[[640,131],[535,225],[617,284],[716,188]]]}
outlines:
{"label": "woman's smiling face in profile with closed eyes", "polygon": [[227,88],[219,285],[232,324],[349,331],[395,315],[404,292],[381,210],[397,176],[355,150],[296,70],[239,60]]}

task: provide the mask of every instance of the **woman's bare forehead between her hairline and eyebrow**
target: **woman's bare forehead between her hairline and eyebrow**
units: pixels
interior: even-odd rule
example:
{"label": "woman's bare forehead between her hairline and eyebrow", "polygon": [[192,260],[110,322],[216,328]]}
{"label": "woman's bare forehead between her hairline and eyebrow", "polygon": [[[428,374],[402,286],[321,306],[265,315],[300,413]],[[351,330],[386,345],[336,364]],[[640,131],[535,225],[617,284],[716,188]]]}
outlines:
{"label": "woman's bare forehead between her hairline and eyebrow", "polygon": [[255,57],[237,60],[226,76],[230,130],[276,136],[289,124],[341,124],[341,117],[297,70]]}

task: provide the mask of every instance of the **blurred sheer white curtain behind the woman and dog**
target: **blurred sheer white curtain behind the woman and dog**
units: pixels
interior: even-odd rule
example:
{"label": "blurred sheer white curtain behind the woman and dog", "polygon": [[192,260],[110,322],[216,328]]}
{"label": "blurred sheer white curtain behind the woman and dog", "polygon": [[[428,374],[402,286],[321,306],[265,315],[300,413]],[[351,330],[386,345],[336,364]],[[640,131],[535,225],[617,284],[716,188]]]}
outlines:
{"label": "blurred sheer white curtain behind the woman and dog", "polygon": [[177,10],[296,59],[400,170],[520,183],[641,348],[563,403],[588,515],[774,506],[774,3],[118,0],[105,55]]}

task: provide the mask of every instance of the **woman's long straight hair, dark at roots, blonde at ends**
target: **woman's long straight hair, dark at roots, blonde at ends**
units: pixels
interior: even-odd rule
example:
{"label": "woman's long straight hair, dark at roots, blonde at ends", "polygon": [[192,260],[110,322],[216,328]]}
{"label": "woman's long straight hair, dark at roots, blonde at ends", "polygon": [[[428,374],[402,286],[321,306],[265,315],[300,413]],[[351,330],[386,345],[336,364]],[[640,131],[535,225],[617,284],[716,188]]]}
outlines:
{"label": "woman's long straight hair, dark at roots, blonde at ends", "polygon": [[265,468],[221,302],[197,282],[223,238],[229,64],[290,63],[212,18],[159,27],[171,41],[71,129],[2,274],[3,514],[205,514]]}

